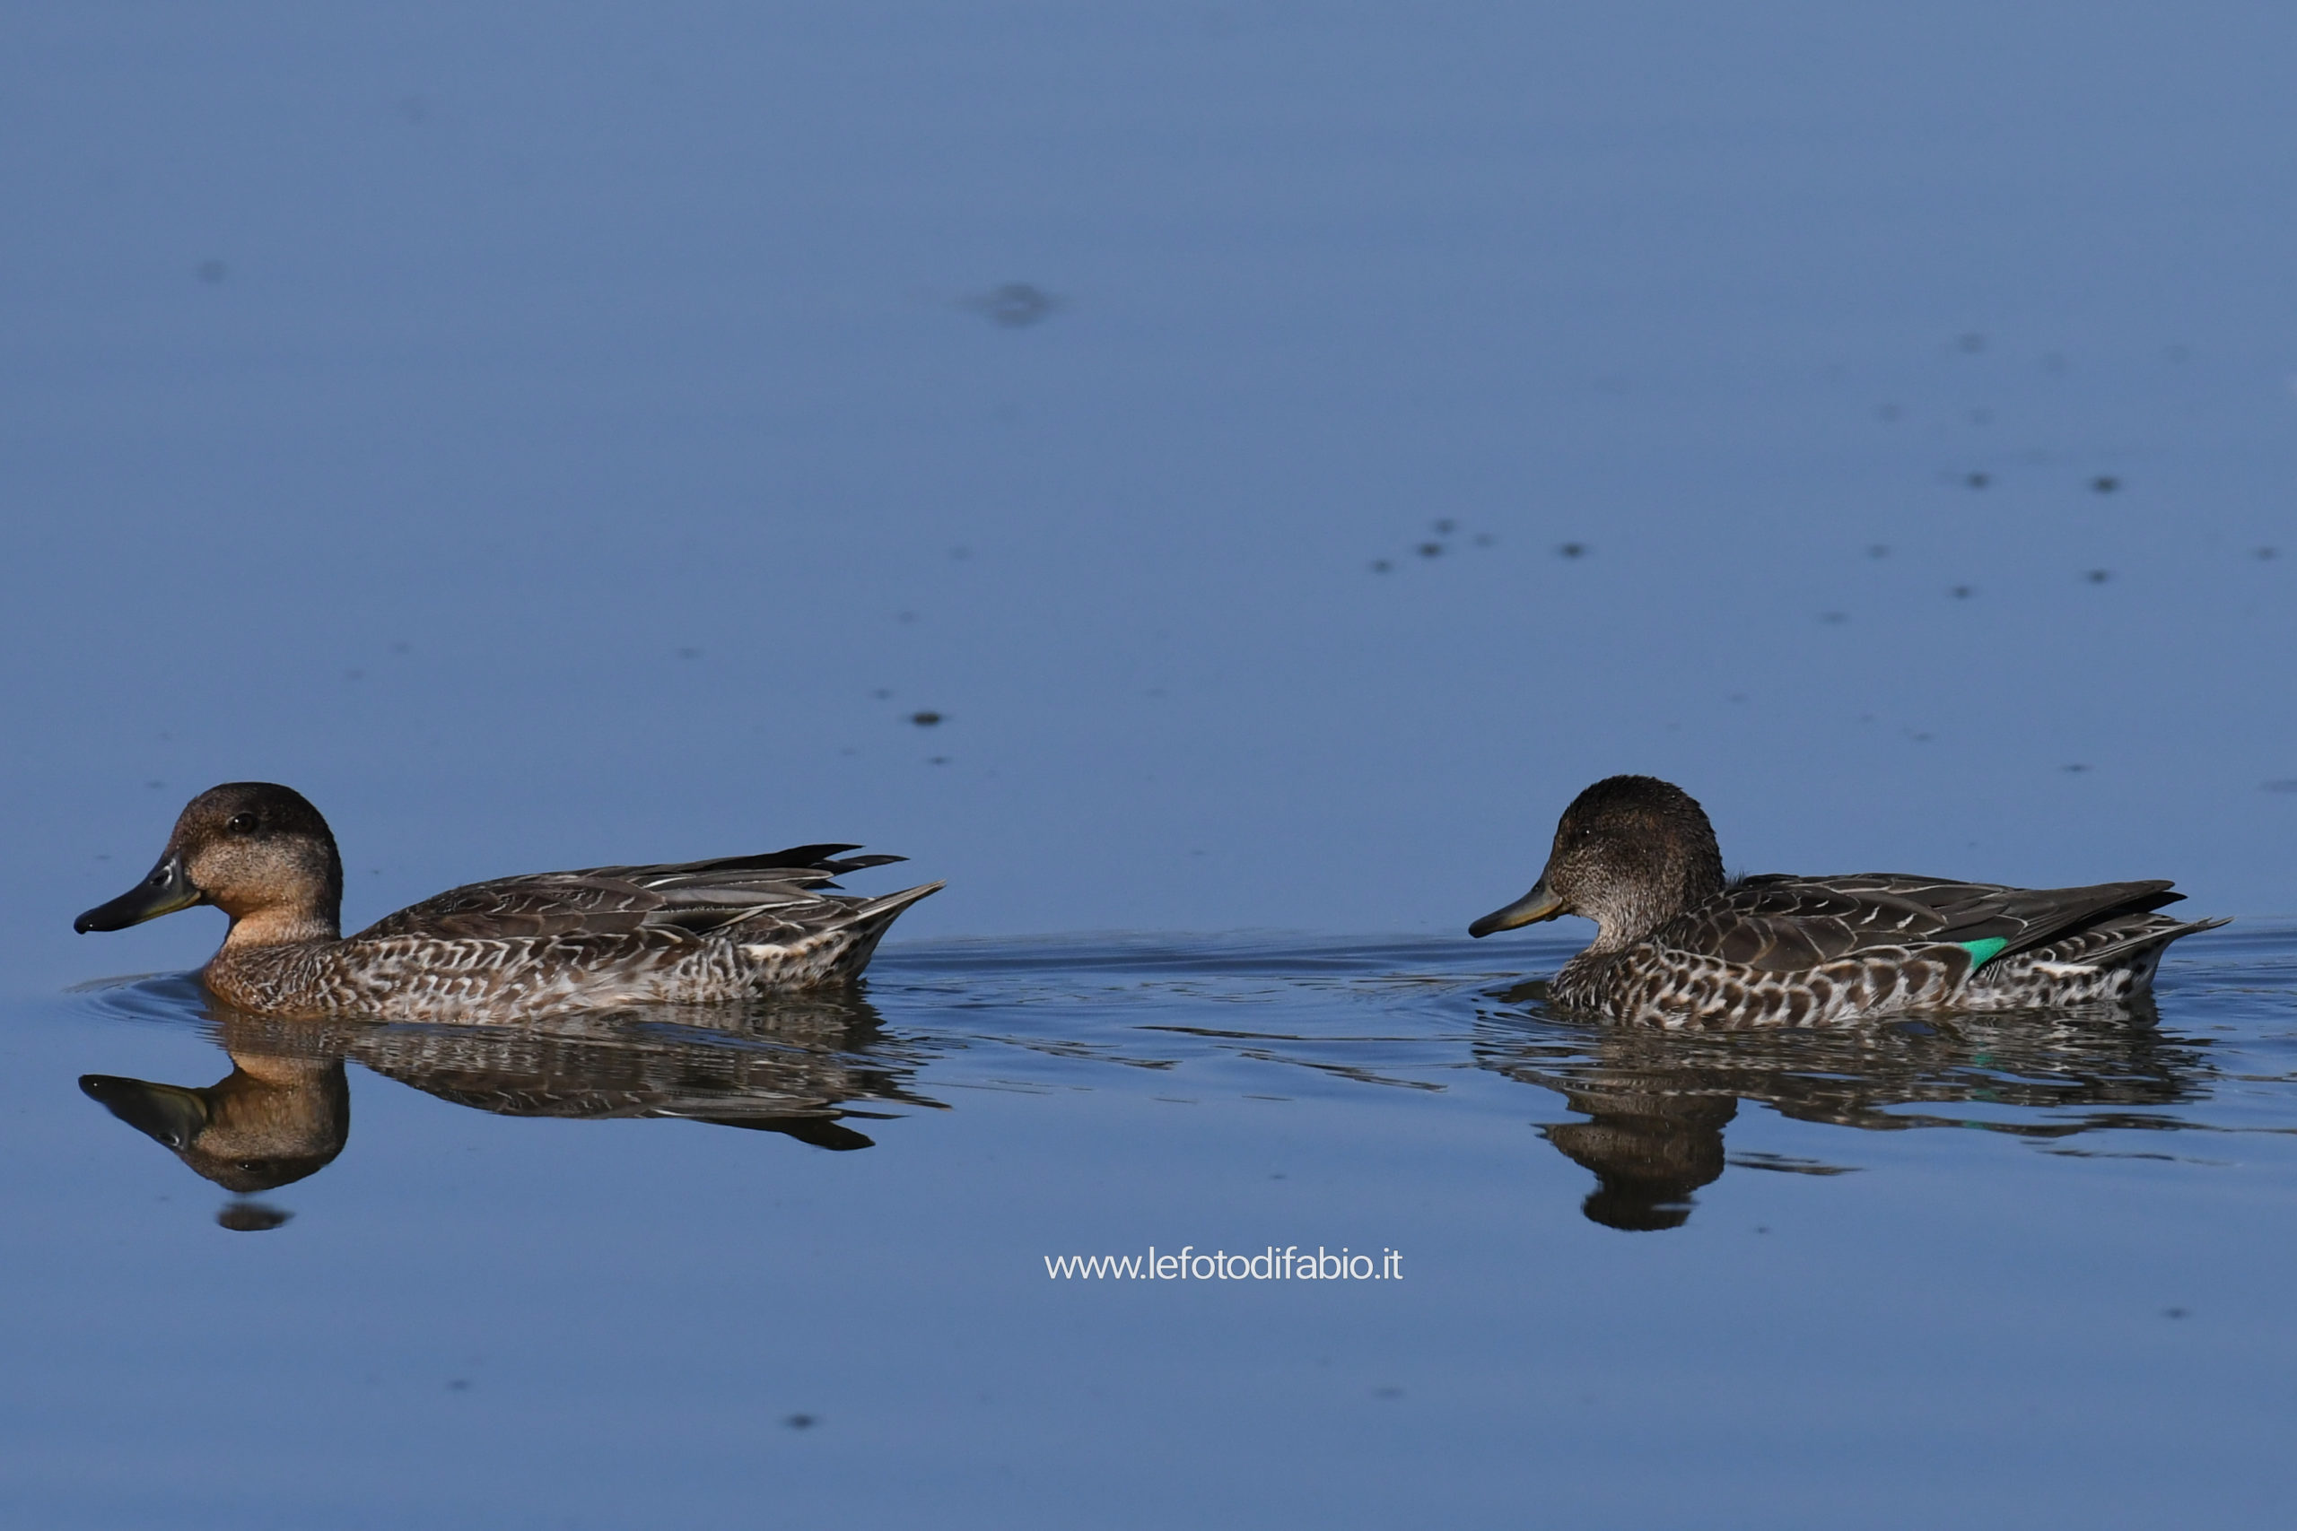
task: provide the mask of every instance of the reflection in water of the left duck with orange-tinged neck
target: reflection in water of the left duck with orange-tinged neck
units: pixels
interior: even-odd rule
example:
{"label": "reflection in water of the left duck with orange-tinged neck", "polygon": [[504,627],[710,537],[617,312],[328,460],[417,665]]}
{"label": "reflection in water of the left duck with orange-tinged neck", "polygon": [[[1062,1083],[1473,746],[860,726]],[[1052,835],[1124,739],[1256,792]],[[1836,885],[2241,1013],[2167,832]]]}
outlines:
{"label": "reflection in water of the left duck with orange-tinged neck", "polygon": [[[278,1021],[177,994],[181,987],[158,980],[117,994],[145,1015],[181,1015],[191,998],[232,1072],[204,1088],[83,1074],[80,1090],[239,1194],[303,1180],[342,1152],[351,1132],[347,1060],[496,1116],[678,1118],[827,1150],[873,1145],[845,1120],[894,1116],[852,1102],[942,1109],[910,1090],[923,1054],[889,1037],[877,1010],[845,992],[482,1028]],[[285,1219],[234,1203],[218,1221],[271,1228]]]}

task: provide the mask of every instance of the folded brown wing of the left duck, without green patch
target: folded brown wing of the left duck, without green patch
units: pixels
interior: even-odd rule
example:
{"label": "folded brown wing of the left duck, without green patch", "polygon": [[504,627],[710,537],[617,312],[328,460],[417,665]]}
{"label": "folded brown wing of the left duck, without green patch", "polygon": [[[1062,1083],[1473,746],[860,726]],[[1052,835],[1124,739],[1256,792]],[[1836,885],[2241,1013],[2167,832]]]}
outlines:
{"label": "folded brown wing of the left duck, without green patch", "polygon": [[351,939],[627,937],[675,930],[698,937],[758,916],[806,923],[806,916],[848,911],[848,900],[825,897],[820,888],[834,888],[848,872],[900,861],[845,856],[850,849],[859,847],[795,845],[763,856],[496,877],[386,914]]}

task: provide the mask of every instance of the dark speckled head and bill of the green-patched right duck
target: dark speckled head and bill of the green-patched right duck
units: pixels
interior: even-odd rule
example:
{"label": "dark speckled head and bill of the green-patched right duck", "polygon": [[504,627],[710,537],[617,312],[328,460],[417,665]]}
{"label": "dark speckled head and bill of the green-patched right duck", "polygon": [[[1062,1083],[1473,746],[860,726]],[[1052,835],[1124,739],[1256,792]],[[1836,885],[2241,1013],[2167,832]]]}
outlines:
{"label": "dark speckled head and bill of the green-patched right duck", "polygon": [[1606,776],[1564,808],[1532,891],[1468,934],[1578,914],[1596,923],[1590,950],[1615,950],[1720,891],[1723,852],[1707,810],[1656,776]]}

